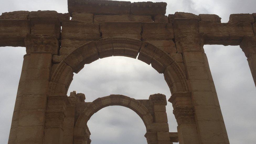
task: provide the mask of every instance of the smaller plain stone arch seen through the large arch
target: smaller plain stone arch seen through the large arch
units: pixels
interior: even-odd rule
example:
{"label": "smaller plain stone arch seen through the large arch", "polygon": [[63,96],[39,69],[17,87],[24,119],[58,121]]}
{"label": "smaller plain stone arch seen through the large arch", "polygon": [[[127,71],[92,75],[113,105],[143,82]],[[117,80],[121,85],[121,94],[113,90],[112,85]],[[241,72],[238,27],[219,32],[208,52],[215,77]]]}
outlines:
{"label": "smaller plain stone arch seen through the large arch", "polygon": [[136,114],[140,116],[140,118],[144,122],[146,130],[147,126],[153,123],[153,116],[150,114],[148,109],[138,100],[124,95],[109,95],[94,100],[80,114],[74,127],[73,143],[75,144],[83,141],[84,135],[86,134],[85,132],[87,122],[93,114],[95,114],[102,108],[113,105],[124,106],[126,108],[133,110]]}

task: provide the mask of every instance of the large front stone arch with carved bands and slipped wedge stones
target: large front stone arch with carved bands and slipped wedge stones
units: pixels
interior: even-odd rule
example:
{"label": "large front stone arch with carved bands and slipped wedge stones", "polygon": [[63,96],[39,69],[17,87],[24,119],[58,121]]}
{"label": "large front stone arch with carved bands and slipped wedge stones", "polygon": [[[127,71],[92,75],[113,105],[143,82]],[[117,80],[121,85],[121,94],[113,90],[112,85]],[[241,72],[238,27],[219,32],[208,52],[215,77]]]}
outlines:
{"label": "large front stone arch with carved bands and slipped wedge stones", "polygon": [[171,93],[189,91],[184,72],[169,54],[148,42],[114,37],[90,41],[64,58],[52,74],[49,94],[67,94],[73,72],[78,73],[85,64],[109,56],[136,58],[137,55],[138,60],[151,64],[159,73],[164,73]]}

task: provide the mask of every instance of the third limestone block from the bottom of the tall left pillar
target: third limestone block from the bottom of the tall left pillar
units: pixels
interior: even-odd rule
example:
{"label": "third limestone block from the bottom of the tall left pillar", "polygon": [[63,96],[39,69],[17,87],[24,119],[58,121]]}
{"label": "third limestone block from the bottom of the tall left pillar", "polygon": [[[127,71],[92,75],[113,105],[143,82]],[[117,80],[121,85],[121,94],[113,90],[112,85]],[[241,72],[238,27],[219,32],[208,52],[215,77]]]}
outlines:
{"label": "third limestone block from the bottom of the tall left pillar", "polygon": [[46,95],[23,95],[21,109],[45,109]]}

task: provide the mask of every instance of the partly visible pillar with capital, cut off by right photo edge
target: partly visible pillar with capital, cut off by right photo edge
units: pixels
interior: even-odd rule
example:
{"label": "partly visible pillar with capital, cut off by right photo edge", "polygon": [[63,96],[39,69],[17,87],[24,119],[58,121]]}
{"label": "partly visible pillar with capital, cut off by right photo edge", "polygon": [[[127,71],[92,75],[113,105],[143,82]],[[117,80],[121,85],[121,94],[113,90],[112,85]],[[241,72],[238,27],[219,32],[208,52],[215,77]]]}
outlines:
{"label": "partly visible pillar with capital, cut off by right photo edge", "polygon": [[240,47],[247,57],[254,84],[256,86],[256,37],[244,36]]}

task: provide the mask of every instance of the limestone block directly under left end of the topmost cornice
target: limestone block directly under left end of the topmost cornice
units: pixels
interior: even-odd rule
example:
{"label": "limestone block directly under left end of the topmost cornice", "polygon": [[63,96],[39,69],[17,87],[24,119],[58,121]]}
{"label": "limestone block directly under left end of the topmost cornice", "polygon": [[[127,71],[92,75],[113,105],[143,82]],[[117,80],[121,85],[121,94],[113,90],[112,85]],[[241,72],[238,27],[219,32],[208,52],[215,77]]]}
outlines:
{"label": "limestone block directly under left end of the topmost cornice", "polygon": [[79,22],[93,23],[93,13],[72,13],[72,19]]}

